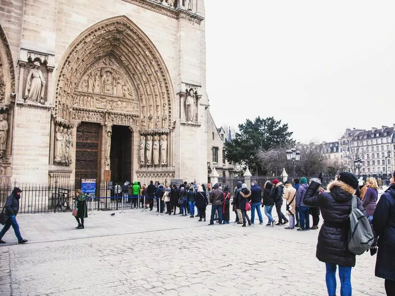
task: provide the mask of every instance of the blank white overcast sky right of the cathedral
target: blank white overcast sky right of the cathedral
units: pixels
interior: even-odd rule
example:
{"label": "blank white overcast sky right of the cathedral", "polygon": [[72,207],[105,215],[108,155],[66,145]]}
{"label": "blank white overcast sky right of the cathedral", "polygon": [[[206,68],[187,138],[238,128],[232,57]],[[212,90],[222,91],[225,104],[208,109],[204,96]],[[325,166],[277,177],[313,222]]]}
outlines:
{"label": "blank white overcast sky right of the cathedral", "polygon": [[297,141],[395,123],[395,1],[205,0],[216,125],[274,116]]}

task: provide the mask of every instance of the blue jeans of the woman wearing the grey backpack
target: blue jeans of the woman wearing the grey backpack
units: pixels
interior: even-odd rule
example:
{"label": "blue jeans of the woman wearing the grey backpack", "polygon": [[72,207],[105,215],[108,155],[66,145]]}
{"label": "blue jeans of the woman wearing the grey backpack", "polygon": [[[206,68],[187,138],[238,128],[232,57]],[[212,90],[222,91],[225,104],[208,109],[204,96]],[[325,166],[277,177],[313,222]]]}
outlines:
{"label": "blue jeans of the woman wearing the grey backpack", "polygon": [[[336,264],[326,265],[326,289],[329,296],[336,296]],[[351,296],[351,266],[339,265],[340,296]]]}

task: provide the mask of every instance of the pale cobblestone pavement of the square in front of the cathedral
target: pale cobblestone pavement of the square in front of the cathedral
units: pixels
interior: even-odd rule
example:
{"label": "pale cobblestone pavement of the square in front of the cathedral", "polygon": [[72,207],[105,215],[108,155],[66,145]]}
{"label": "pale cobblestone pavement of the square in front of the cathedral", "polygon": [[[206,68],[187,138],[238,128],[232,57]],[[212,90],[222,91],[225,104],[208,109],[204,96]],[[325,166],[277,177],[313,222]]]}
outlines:
{"label": "pale cobblestone pavement of the square in front of the cathedral", "polygon": [[[90,216],[81,230],[70,213],[18,216],[29,243],[16,245],[11,231],[4,236],[0,295],[327,295],[317,230],[208,226],[139,210],[110,214]],[[353,296],[385,295],[375,259],[357,258]]]}

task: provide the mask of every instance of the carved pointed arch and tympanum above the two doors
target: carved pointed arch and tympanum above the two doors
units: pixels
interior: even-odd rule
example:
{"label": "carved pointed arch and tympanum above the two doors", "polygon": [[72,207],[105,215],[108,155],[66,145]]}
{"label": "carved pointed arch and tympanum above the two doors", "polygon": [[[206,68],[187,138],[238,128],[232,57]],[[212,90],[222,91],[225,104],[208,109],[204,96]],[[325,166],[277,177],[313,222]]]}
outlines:
{"label": "carved pointed arch and tympanum above the two doors", "polygon": [[174,100],[157,48],[129,18],[118,16],[91,26],[67,49],[57,74],[53,118],[66,125],[87,116],[134,130],[170,130]]}

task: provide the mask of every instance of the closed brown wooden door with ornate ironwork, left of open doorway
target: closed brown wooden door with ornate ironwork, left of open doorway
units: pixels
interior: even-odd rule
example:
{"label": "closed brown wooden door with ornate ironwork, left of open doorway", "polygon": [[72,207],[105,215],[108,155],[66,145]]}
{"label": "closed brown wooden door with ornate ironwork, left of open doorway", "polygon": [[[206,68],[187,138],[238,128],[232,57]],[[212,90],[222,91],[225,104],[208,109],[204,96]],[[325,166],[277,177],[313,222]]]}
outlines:
{"label": "closed brown wooden door with ornate ironwork, left of open doorway", "polygon": [[99,123],[81,122],[77,127],[76,188],[80,188],[81,179],[100,182],[101,131]]}

